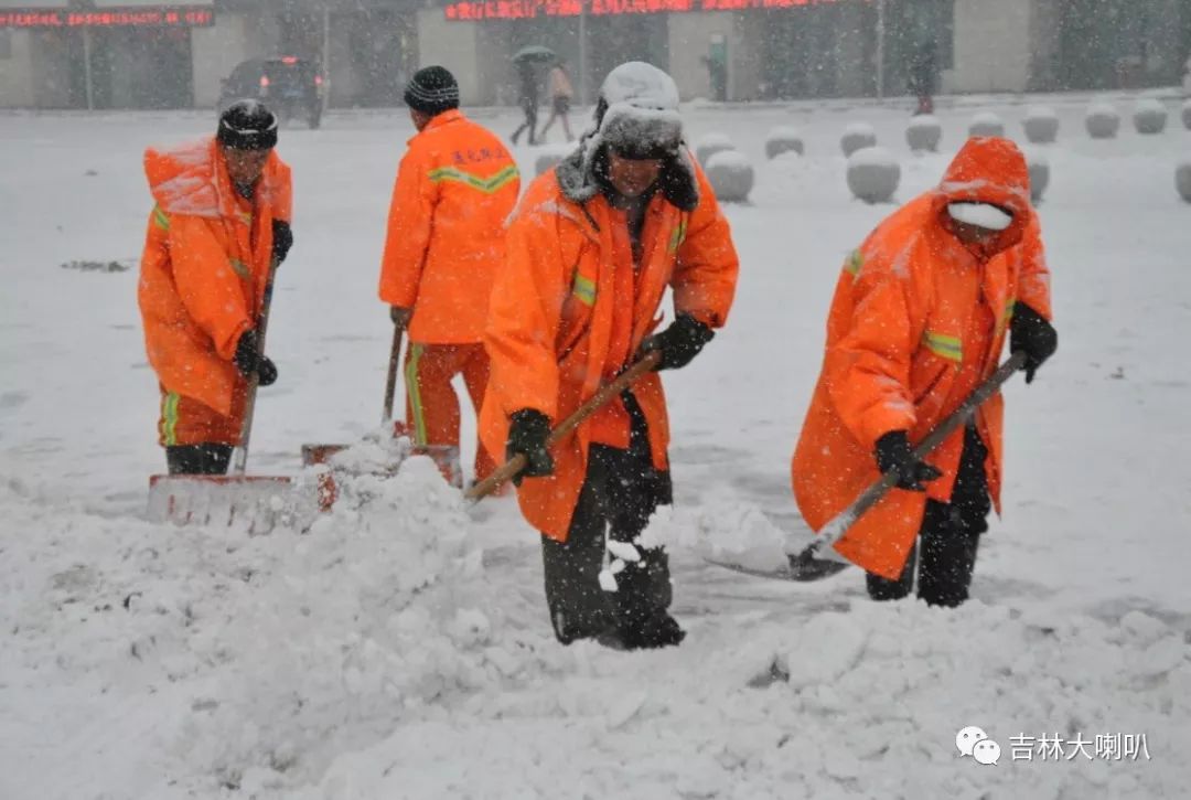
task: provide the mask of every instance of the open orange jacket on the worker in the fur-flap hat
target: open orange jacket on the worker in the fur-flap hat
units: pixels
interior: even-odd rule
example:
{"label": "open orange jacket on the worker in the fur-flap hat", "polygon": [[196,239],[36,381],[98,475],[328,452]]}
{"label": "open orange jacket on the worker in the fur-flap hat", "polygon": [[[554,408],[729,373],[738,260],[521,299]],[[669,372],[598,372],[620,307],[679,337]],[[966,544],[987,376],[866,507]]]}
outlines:
{"label": "open orange jacket on the worker in the fur-flap hat", "polygon": [[[623,215],[603,196],[582,204],[569,198],[554,170],[530,185],[510,223],[507,262],[497,277],[485,335],[492,372],[480,435],[488,452],[505,452],[512,413],[537,409],[557,424],[615,377],[659,324],[667,286],[676,314],[713,328],[724,323],[736,290],[736,249],[698,167],[694,178],[700,199],[693,211],[679,211],[661,194],[651,199],[636,271],[631,248],[616,241]],[[632,286],[628,294],[625,269]],[[661,378],[650,373],[632,392],[646,415],[654,466],[666,470],[669,427]],[[628,424],[616,401],[551,449],[555,473],[526,478],[517,491],[535,528],[566,540],[590,444],[597,436],[612,444],[619,430],[626,445]]]}

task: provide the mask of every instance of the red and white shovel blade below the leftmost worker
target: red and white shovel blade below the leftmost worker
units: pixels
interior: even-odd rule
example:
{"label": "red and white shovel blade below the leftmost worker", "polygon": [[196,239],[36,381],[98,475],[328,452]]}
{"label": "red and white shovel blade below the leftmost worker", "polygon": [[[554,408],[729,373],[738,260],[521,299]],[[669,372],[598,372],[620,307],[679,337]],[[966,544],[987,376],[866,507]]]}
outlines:
{"label": "red and white shovel blade below the leftmost worker", "polygon": [[149,478],[154,522],[233,525],[268,531],[292,480],[283,476],[155,475]]}

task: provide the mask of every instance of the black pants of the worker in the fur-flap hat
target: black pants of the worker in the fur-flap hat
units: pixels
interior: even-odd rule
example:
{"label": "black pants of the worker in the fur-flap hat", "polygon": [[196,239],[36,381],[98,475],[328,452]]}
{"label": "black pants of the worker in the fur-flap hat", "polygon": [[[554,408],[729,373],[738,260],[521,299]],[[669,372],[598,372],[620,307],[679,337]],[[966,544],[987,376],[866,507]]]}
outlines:
{"label": "black pants of the worker in the fur-flap hat", "polygon": [[605,535],[631,542],[672,497],[669,473],[653,466],[644,417],[631,395],[625,399],[634,420],[629,449],[592,445],[567,541],[542,537],[545,599],[562,644],[597,638],[618,647],[662,647],[685,635],[667,613],[673,593],[665,548],[636,546],[641,560],[625,563],[617,590],[600,588]]}

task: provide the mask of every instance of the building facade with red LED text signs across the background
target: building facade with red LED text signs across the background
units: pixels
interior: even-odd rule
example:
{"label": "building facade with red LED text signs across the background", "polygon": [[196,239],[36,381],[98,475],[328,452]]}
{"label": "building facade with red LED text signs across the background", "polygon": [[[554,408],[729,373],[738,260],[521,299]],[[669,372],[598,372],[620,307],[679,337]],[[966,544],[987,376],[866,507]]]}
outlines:
{"label": "building facade with red LED text signs across the background", "polygon": [[526,44],[586,99],[629,58],[687,99],[904,94],[916,63],[942,92],[1137,88],[1180,82],[1191,0],[0,0],[0,106],[210,107],[276,55],[320,64],[331,106],[397,105],[429,63],[505,105]]}

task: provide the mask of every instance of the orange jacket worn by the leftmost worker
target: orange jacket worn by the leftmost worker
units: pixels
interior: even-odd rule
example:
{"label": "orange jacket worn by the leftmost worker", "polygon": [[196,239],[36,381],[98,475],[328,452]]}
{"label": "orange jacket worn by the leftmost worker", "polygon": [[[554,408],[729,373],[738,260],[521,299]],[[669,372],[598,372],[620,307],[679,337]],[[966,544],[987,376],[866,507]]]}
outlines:
{"label": "orange jacket worn by the leftmost worker", "polygon": [[145,150],[156,205],[141,259],[138,299],[149,364],[166,392],[232,415],[244,379],[232,365],[256,325],[273,221],[291,216],[289,167],[270,154],[255,201],[238,199],[214,137]]}

